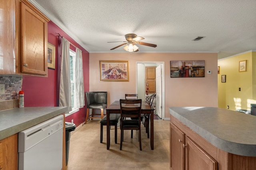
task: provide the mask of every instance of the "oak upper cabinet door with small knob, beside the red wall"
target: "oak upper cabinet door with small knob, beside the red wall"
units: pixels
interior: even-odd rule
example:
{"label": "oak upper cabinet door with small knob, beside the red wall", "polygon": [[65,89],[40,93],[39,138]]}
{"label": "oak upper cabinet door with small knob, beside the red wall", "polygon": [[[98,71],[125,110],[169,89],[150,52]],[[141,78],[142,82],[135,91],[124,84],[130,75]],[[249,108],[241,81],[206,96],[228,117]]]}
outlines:
{"label": "oak upper cabinet door with small knob, beside the red wall", "polygon": [[21,3],[21,72],[47,75],[47,21]]}

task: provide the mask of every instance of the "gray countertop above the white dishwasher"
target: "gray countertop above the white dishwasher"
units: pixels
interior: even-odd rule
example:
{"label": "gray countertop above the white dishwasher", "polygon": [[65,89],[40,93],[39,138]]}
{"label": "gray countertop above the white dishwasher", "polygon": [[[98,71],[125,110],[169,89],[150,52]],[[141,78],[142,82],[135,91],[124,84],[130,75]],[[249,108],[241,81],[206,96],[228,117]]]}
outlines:
{"label": "gray countertop above the white dishwasher", "polygon": [[0,140],[64,113],[67,107],[23,107],[0,111]]}

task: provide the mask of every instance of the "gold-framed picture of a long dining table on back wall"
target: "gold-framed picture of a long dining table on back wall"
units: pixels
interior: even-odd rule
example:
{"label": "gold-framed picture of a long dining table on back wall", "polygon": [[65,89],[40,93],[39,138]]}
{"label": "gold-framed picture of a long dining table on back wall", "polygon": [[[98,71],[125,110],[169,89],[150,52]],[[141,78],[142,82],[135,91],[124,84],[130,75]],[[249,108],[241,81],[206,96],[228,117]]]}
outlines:
{"label": "gold-framed picture of a long dining table on back wall", "polygon": [[100,61],[100,82],[128,82],[129,61]]}

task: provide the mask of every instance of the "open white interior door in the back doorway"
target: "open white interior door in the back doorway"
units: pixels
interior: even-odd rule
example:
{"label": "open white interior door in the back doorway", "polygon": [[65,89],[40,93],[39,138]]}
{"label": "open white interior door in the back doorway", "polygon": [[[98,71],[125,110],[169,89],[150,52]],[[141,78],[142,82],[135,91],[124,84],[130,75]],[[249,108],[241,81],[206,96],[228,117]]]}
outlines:
{"label": "open white interior door in the back doorway", "polygon": [[162,118],[162,64],[156,67],[156,114]]}

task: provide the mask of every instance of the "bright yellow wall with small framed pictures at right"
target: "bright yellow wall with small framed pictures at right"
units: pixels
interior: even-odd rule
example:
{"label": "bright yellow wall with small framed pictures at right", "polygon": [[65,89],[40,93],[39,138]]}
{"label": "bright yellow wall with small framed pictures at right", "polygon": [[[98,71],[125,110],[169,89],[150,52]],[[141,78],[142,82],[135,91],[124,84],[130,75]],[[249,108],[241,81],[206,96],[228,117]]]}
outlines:
{"label": "bright yellow wall with small framed pictures at right", "polygon": [[[218,107],[250,110],[250,104],[255,103],[256,92],[253,86],[256,86],[256,80],[253,75],[256,76],[256,69],[252,67],[256,64],[254,56],[256,57],[256,53],[250,51],[218,61]],[[246,72],[239,72],[238,63],[244,60],[247,62]],[[226,82],[221,82],[221,75],[226,75]]]}

